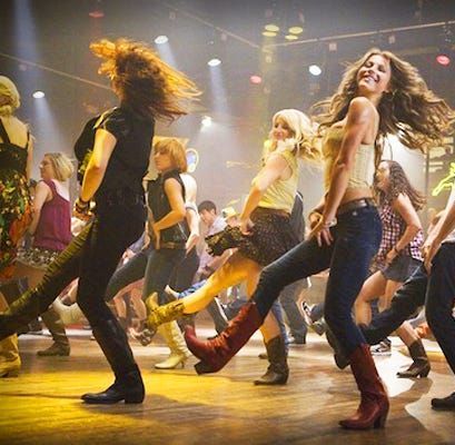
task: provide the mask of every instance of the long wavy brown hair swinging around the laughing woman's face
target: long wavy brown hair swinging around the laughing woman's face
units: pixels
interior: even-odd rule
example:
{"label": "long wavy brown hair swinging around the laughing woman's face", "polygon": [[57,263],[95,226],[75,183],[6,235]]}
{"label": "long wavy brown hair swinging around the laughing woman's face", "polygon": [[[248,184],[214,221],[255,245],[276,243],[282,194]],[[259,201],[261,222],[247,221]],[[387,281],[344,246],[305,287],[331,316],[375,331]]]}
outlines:
{"label": "long wavy brown hair swinging around the laughing woman's face", "polygon": [[426,152],[443,145],[443,138],[452,134],[455,111],[437,97],[418,73],[417,68],[399,59],[393,52],[370,49],[345,71],[334,96],[317,102],[315,119],[319,131],[343,120],[352,99],[357,96],[357,73],[372,56],[382,56],[390,63],[389,91],[385,92],[377,107],[379,130],[376,138],[376,164],[380,160],[383,140],[387,134],[396,135],[411,149]]}

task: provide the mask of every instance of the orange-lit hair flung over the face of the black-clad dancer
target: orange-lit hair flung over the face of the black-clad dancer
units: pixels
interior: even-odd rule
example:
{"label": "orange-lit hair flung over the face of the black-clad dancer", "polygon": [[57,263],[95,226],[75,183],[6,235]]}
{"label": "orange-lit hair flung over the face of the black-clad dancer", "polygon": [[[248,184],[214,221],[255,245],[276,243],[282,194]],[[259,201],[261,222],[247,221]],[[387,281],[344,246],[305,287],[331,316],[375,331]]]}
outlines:
{"label": "orange-lit hair flung over the face of the black-clad dancer", "polygon": [[102,39],[90,44],[105,59],[98,72],[107,75],[120,100],[142,116],[172,121],[188,113],[200,91],[182,72],[165,63],[146,43]]}

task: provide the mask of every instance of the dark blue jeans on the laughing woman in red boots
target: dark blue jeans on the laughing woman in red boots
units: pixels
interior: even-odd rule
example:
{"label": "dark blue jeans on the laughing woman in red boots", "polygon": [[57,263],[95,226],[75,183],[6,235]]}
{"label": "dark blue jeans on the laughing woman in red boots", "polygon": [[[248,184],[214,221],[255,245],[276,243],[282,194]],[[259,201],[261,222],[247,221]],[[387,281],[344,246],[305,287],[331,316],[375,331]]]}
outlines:
{"label": "dark blue jeans on the laughing woman in red boots", "polygon": [[254,294],[259,314],[265,317],[283,288],[330,268],[325,298],[326,322],[347,355],[366,343],[352,317],[352,307],[368,276],[380,237],[380,219],[375,207],[363,207],[338,217],[330,229],[334,241],[318,246],[311,238],[300,243],[267,266]]}

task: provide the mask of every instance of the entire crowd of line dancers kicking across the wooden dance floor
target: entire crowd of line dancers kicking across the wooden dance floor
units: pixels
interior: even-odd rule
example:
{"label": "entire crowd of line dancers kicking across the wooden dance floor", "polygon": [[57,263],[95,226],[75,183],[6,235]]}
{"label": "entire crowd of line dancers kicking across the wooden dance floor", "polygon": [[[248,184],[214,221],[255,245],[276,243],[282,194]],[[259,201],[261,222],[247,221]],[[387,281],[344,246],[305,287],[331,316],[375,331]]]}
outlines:
{"label": "entire crowd of line dancers kicking across the wooden dance floor", "polygon": [[[14,117],[20,103],[14,83],[0,77],[2,376],[19,372],[17,332],[24,325],[41,316],[55,342],[41,354],[68,355],[62,318],[83,314],[115,382],[82,399],[141,403],[145,387],[126,334],[122,296],[129,291],[139,318],[132,335],[148,345],[158,332],[170,349],[156,367],[182,366],[192,353],[200,359],[198,374],[218,372],[260,329],[269,365],[255,384],[284,385],[289,342],[278,301],[289,301],[286,293],[295,293],[295,283],[304,286],[327,269],[327,338],[337,366],[350,365],[360,392],[358,409],[340,421],[343,427],[386,423],[389,400],[369,345],[397,330],[413,358],[398,376],[428,375],[425,348],[407,322],[422,306],[455,372],[455,187],[425,239],[417,214],[425,197],[399,164],[382,159],[389,135],[426,152],[453,130],[454,110],[415,67],[372,49],[349,66],[330,98],[315,105],[311,118],[296,109],[276,112],[263,166],[238,219],[226,224],[212,202],[197,207],[196,182],[179,140],[151,145],[155,121],[186,115],[200,95],[196,85],[142,43],[101,40],[90,48],[103,60],[99,72],[109,77],[119,106],[91,119],[75,146],[80,189],[73,215],[85,221],[76,237],[65,187],[71,162],[61,154],[44,155],[31,201],[32,137]],[[144,186],[151,147],[158,176]],[[325,169],[325,194],[309,212],[306,237],[297,192],[300,160]],[[199,216],[210,231],[194,283]],[[19,249],[26,234],[31,240]],[[216,297],[240,284],[247,301],[227,323]],[[69,288],[76,303],[67,307],[57,298]],[[377,298],[379,313],[372,316]],[[111,299],[118,317],[107,305]],[[301,315],[308,314],[293,310],[293,304],[283,306],[289,322],[301,326],[293,340],[304,343]],[[192,315],[204,308],[218,332],[209,340],[195,330]],[[455,393],[432,405],[455,409]]]}

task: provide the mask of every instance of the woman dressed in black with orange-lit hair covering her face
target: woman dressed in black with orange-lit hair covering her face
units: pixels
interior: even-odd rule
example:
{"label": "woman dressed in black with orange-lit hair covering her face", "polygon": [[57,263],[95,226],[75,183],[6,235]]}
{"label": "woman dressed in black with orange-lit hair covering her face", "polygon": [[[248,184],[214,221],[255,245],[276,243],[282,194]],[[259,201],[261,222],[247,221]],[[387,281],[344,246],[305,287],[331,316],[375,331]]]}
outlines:
{"label": "woman dressed in black with orange-lit hair covering her face", "polygon": [[108,389],[85,394],[82,399],[91,404],[141,403],[145,388],[140,370],[127,336],[103,297],[123,251],[144,231],[142,178],[149,164],[155,120],[171,121],[186,115],[181,101],[194,99],[198,90],[144,43],[100,40],[90,49],[105,60],[99,72],[109,77],[120,101],[89,128],[95,132],[95,144],[87,147],[92,148],[92,154],[75,214],[87,217],[93,200],[95,216],[49,266],[40,284],[0,315],[0,338],[44,312],[79,277],[78,304],[116,377]]}

